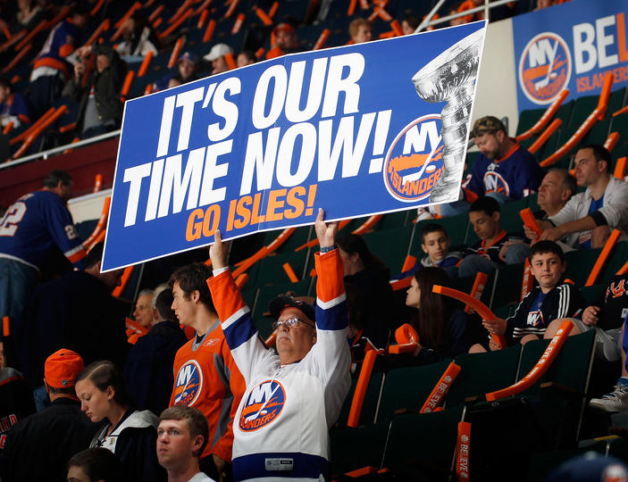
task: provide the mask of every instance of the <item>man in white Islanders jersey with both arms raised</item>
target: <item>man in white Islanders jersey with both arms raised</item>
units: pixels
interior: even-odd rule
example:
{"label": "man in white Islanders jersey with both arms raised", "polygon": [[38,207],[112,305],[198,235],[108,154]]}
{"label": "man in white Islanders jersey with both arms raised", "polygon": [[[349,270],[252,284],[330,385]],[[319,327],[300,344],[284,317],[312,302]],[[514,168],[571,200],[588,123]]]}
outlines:
{"label": "man in white Islanders jersey with both arms raised", "polygon": [[[235,480],[320,480],[329,475],[328,429],[350,384],[347,308],[337,223],[315,222],[321,252],[314,257],[315,325],[310,310],[286,303],[277,320],[277,353],[257,334],[227,267],[220,232],[210,248],[207,284],[233,358],[247,382],[233,423]],[[307,313],[310,316],[307,316]]]}

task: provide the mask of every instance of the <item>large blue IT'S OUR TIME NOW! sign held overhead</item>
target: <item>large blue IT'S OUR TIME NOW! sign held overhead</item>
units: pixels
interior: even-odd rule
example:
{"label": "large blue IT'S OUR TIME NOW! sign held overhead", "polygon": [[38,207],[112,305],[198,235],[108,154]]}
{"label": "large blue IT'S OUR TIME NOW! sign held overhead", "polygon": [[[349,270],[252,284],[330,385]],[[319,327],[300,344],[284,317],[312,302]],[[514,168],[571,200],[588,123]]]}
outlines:
{"label": "large blue IT'S OUR TIME NOW! sign held overhead", "polygon": [[319,207],[339,220],[444,202],[439,179],[456,197],[483,27],[287,55],[127,102],[104,269],[216,229],[309,224]]}

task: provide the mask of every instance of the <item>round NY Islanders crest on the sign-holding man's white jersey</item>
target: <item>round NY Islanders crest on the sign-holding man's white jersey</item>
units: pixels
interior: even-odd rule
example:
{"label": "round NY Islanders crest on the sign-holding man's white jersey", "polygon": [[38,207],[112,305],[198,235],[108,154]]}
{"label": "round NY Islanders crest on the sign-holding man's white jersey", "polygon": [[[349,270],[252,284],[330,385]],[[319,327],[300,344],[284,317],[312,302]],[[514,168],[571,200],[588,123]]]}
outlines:
{"label": "round NY Islanders crest on the sign-holding man's white jersey", "polygon": [[240,430],[252,432],[272,423],[279,417],[284,403],[286,391],[277,380],[266,380],[255,386],[240,413]]}

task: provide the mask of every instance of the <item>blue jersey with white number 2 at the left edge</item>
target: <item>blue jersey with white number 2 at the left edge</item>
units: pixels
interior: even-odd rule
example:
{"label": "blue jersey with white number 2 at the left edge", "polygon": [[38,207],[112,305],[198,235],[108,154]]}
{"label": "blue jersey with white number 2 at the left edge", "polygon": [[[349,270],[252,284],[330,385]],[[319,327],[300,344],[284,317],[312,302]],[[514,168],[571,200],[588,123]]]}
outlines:
{"label": "blue jersey with white number 2 at the left edge", "polygon": [[39,270],[54,245],[82,269],[85,250],[63,199],[51,191],[22,195],[0,219],[0,257]]}

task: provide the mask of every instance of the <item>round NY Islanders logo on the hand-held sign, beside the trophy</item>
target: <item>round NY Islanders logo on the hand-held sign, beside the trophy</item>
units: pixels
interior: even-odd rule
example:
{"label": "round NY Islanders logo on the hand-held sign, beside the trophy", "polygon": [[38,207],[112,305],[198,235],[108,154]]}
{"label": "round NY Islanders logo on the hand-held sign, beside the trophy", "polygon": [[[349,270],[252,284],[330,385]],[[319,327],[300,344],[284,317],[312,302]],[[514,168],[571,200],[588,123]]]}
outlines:
{"label": "round NY Islanders logo on the hand-held sign, beside the trophy", "polygon": [[430,196],[443,172],[440,114],[410,122],[392,141],[384,160],[384,184],[390,195],[404,203]]}

